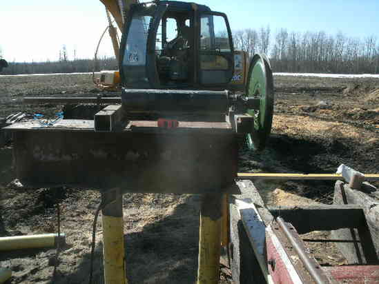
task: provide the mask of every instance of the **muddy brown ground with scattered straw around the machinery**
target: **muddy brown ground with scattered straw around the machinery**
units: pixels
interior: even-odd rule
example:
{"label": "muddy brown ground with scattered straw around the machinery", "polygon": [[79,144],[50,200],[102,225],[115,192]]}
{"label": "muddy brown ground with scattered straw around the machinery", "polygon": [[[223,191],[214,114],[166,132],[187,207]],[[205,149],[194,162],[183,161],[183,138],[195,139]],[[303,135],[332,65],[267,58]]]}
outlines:
{"label": "muddy brown ground with scattered straw around the machinery", "polygon": [[[240,172],[335,172],[340,163],[364,173],[379,172],[379,79],[276,76],[274,84],[275,116],[269,145],[260,154],[241,148]],[[25,95],[97,92],[88,74],[0,77],[0,117],[20,111],[52,115],[61,108],[23,105]],[[56,203],[60,203],[61,231],[68,245],[61,249],[59,261],[55,261],[55,250],[1,252],[0,267],[13,271],[9,283],[86,283],[99,194],[78,188],[14,190],[9,185],[14,179],[11,151],[12,145],[0,149],[0,236],[57,232]],[[333,201],[332,181],[255,185],[269,204],[286,205],[293,200],[290,195],[279,199],[278,190],[272,193],[278,188],[281,194],[309,198],[303,199],[306,202]],[[194,283],[200,197],[125,194],[123,200],[129,283]],[[103,283],[101,237],[99,221],[94,283]],[[316,249],[321,250],[315,255],[325,265],[343,264],[333,247]],[[222,268],[220,283],[231,283],[228,270]]]}

